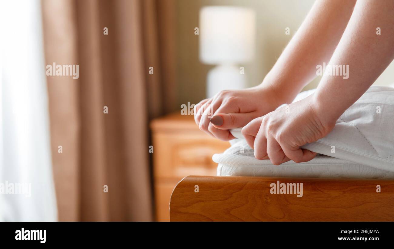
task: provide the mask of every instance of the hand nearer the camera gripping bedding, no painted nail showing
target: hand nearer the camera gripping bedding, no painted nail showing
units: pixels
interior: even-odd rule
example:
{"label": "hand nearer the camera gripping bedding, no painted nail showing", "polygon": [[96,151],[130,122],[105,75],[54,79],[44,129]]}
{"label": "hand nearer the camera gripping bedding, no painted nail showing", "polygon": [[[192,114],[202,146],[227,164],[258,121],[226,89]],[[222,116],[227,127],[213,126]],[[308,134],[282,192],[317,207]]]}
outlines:
{"label": "hand nearer the camera gripping bedding, no painted nail showing", "polygon": [[316,110],[318,106],[311,95],[244,126],[242,135],[248,145],[255,149],[255,158],[270,159],[274,165],[289,160],[296,163],[312,160],[316,153],[300,147],[323,138],[336,122],[320,117],[324,112]]}

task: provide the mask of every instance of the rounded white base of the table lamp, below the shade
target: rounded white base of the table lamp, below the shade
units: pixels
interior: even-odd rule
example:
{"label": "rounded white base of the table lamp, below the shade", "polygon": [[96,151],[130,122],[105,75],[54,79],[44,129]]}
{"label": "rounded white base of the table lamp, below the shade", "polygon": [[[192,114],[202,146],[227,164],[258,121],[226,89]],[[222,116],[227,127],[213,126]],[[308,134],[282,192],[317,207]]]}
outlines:
{"label": "rounded white base of the table lamp, below the shade", "polygon": [[246,88],[245,74],[234,65],[219,65],[208,72],[206,96],[214,97],[221,90]]}

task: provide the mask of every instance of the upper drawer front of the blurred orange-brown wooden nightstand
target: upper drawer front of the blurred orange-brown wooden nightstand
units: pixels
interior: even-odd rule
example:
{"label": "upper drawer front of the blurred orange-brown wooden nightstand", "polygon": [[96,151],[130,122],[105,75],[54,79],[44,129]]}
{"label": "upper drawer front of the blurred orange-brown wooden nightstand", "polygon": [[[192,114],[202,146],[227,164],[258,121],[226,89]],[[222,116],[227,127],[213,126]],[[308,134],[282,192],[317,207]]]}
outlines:
{"label": "upper drawer front of the blurred orange-brown wooden nightstand", "polygon": [[201,131],[154,134],[154,176],[183,178],[188,175],[216,175],[212,155],[230,147]]}

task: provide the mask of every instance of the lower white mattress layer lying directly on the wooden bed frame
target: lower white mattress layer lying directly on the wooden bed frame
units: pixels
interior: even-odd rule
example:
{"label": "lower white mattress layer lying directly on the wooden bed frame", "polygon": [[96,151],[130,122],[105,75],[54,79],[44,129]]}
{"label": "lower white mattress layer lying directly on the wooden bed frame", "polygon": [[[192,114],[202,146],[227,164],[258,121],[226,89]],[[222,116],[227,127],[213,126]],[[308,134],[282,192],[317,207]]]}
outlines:
{"label": "lower white mattress layer lying directly on the wooden bed frame", "polygon": [[257,160],[244,139],[237,139],[212,159],[218,164],[218,176],[394,179],[394,172],[321,154],[305,163],[289,161],[273,165],[269,160]]}

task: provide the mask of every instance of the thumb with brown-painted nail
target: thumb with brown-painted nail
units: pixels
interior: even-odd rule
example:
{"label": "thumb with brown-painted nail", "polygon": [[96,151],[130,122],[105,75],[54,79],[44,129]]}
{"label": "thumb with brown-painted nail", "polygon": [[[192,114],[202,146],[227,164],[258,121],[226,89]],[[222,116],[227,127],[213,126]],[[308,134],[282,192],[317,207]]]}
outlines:
{"label": "thumb with brown-painted nail", "polygon": [[247,125],[254,119],[253,113],[220,113],[215,114],[210,122],[221,130],[229,130]]}

